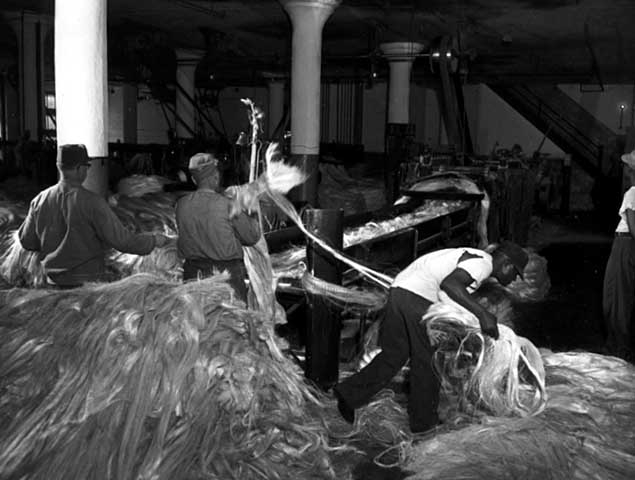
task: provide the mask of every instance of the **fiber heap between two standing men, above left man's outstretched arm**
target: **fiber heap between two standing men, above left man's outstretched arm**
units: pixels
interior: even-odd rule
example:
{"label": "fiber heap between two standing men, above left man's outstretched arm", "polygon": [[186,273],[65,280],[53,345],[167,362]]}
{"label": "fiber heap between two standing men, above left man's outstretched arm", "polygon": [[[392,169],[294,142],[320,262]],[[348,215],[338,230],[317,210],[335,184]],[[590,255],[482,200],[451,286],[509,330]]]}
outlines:
{"label": "fiber heap between two standing men, above left man's outstretched arm", "polygon": [[113,211],[129,230],[167,235],[177,232],[176,200],[176,195],[168,192],[150,193],[143,197],[115,194],[108,198]]}

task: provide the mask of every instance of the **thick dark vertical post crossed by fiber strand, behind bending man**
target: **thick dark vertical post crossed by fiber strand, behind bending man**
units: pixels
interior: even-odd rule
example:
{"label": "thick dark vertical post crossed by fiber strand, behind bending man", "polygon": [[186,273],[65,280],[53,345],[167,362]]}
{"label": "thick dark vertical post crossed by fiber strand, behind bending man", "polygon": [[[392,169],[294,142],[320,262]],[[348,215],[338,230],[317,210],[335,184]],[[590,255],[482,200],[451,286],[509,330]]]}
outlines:
{"label": "thick dark vertical post crossed by fiber strand, behind bending man", "polygon": [[[332,247],[341,250],[343,211],[313,209],[305,212],[307,228]],[[307,243],[309,271],[322,280],[340,285],[342,273],[338,261],[314,242]],[[323,389],[337,383],[339,374],[339,312],[319,296],[309,297],[307,309],[306,363],[304,372]]]}

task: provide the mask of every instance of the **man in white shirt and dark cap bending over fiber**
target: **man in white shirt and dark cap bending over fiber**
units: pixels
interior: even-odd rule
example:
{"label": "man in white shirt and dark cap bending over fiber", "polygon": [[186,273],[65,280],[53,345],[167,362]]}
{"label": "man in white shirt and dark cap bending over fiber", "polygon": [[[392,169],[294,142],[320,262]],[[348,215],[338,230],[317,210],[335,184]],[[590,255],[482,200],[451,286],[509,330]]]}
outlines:
{"label": "man in white shirt and dark cap bending over fiber", "polygon": [[334,388],[338,408],[350,423],[355,409],[366,405],[385,388],[410,359],[408,415],[413,433],[438,423],[439,380],[433,371],[433,349],[421,324],[428,307],[453,301],[472,312],[485,335],[498,338],[496,317],[479,305],[471,293],[488,277],[511,283],[527,265],[527,253],[511,242],[492,254],[474,248],[448,248],[419,257],[391,285],[379,334],[381,352],[362,370]]}

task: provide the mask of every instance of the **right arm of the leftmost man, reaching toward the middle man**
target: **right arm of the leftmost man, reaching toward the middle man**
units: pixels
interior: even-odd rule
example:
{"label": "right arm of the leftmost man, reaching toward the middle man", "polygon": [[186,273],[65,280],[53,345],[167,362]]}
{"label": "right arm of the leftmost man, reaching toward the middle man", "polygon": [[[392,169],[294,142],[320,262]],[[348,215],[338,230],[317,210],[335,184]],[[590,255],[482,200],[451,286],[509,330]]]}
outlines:
{"label": "right arm of the leftmost man, reaching toward the middle man", "polygon": [[157,244],[165,243],[159,235],[130,232],[103,199],[95,201],[93,209],[93,227],[97,236],[110,248],[123,253],[147,255],[155,246],[160,246]]}

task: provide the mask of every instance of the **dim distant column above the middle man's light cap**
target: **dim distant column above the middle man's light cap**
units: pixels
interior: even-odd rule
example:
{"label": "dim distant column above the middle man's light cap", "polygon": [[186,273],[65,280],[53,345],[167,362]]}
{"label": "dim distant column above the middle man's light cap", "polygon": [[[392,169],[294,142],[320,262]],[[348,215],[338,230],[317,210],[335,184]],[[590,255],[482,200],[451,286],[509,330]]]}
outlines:
{"label": "dim distant column above the middle man's light cap", "polygon": [[202,50],[177,48],[176,53],[176,136],[192,138],[196,132],[195,74]]}

